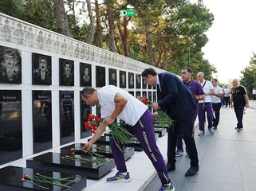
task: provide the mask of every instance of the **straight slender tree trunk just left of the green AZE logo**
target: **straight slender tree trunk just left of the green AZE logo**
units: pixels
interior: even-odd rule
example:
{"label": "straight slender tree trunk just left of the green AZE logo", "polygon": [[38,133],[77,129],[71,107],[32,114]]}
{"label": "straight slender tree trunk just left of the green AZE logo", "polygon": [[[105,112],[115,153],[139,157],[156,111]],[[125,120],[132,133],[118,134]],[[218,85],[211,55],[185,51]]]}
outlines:
{"label": "straight slender tree trunk just left of the green AZE logo", "polygon": [[113,53],[116,53],[116,46],[115,46],[115,23],[113,14],[114,11],[112,7],[108,7],[108,27],[109,27],[109,33],[108,33],[108,46],[109,50]]}

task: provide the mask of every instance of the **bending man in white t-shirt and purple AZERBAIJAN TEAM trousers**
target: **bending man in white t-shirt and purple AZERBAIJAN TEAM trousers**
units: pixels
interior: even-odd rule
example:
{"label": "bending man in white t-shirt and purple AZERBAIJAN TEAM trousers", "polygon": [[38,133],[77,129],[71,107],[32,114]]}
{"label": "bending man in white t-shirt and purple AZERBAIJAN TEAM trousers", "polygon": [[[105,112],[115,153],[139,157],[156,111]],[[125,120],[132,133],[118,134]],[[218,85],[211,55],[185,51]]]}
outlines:
{"label": "bending man in white t-shirt and purple AZERBAIJAN TEAM trousers", "polygon": [[[168,177],[163,155],[156,145],[153,115],[144,103],[113,85],[104,86],[100,90],[85,87],[81,92],[81,98],[89,106],[95,106],[96,103],[99,103],[101,107],[100,118],[104,118],[99,127],[96,128],[93,138],[85,144],[82,150],[89,151],[93,143],[104,133],[106,127],[114,123],[117,118],[121,119],[128,124],[125,128],[131,134],[136,135],[144,152],[155,167],[162,182],[160,191],[175,190]],[[110,146],[118,172],[115,176],[108,177],[107,181],[131,181],[124,161],[123,145],[120,142],[118,146],[116,144],[116,141],[111,138]]]}

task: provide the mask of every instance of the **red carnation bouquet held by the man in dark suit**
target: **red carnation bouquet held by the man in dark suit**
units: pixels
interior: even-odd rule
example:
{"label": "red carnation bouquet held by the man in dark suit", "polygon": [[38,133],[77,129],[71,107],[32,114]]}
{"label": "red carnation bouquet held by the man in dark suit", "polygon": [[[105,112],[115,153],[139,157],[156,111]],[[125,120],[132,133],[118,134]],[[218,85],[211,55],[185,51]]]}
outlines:
{"label": "red carnation bouquet held by the man in dark suit", "polygon": [[[150,99],[148,99],[145,95],[141,96],[139,98],[139,100],[141,102],[143,102],[145,105],[148,105],[150,106],[152,104],[152,101]],[[164,126],[164,127],[171,127],[171,124],[173,123],[172,119],[170,118],[169,115],[167,115],[163,110],[161,109],[158,109],[156,110],[157,112],[157,116],[158,116],[158,119],[157,119],[157,122],[160,123],[161,126]]]}

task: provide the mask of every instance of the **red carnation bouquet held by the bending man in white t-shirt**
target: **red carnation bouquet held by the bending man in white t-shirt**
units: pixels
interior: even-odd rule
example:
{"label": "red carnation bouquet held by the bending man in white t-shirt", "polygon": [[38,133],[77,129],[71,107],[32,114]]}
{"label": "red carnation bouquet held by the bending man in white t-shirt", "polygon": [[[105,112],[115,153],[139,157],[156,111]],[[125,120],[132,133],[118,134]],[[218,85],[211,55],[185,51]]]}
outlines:
{"label": "red carnation bouquet held by the bending man in white t-shirt", "polygon": [[[89,117],[87,121],[85,122],[85,129],[89,130],[91,129],[92,133],[94,134],[96,131],[96,128],[100,125],[100,122],[103,119],[100,119],[97,115],[89,114]],[[116,145],[118,146],[118,143],[127,144],[130,139],[133,137],[133,134],[129,133],[127,129],[125,128],[125,123],[112,123],[111,125],[108,125],[110,134],[114,138]]]}

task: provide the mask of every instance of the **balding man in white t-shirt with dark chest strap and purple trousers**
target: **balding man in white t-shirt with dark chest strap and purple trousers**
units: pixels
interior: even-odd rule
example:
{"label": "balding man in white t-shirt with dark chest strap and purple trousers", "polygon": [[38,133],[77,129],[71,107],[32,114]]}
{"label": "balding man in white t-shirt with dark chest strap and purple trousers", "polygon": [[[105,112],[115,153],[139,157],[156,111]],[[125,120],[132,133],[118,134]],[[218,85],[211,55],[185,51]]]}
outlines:
{"label": "balding man in white t-shirt with dark chest strap and purple trousers", "polygon": [[211,81],[204,80],[204,73],[198,72],[197,80],[199,84],[203,87],[204,92],[204,99],[199,101],[199,130],[200,133],[198,134],[199,137],[204,136],[204,122],[205,122],[205,112],[207,112],[207,122],[208,122],[208,131],[210,134],[215,134],[215,132],[211,129],[212,127],[212,119],[213,119],[213,112],[212,112],[212,105],[211,105],[211,96],[215,94],[215,89],[211,84]]}

